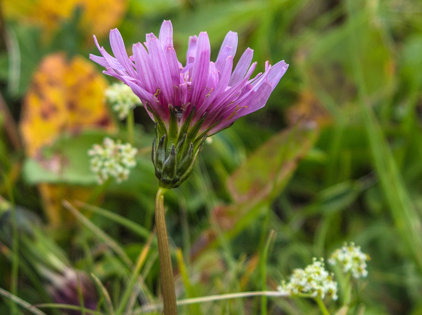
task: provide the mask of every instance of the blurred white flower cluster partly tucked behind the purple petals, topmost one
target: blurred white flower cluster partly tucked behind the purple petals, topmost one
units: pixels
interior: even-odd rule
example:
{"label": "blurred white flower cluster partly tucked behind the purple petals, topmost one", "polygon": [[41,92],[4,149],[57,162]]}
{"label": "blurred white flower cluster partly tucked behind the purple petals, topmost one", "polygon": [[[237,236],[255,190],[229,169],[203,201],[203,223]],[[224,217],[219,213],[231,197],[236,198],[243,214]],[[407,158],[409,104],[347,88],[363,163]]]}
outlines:
{"label": "blurred white flower cluster partly tucked behind the purple petals, topmost one", "polygon": [[119,113],[120,119],[126,118],[130,110],[141,104],[139,97],[124,83],[113,83],[106,89],[105,95],[107,102]]}

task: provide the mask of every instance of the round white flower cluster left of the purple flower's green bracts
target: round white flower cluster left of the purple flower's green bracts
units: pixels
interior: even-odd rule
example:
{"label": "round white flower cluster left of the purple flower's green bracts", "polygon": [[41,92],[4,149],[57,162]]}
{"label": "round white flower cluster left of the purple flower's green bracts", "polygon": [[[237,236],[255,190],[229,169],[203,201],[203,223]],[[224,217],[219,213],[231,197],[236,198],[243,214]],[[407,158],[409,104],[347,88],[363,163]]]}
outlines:
{"label": "round white flower cluster left of the purple flower's green bracts", "polygon": [[118,183],[127,180],[129,169],[135,167],[135,155],[138,149],[120,140],[114,142],[106,137],[103,145],[95,144],[88,151],[91,159],[91,170],[97,174],[98,183],[104,183],[109,177],[116,178]]}

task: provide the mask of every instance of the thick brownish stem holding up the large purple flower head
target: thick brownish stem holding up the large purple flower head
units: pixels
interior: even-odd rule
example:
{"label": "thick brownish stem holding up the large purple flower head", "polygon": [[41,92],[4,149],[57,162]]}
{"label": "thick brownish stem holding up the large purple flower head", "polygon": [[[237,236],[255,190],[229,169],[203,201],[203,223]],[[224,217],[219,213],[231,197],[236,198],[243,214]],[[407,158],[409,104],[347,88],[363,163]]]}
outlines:
{"label": "thick brownish stem holding up the large purple flower head", "polygon": [[160,258],[161,290],[165,315],[177,315],[176,293],[174,291],[173,267],[168,245],[167,227],[164,214],[164,193],[166,188],[158,188],[155,198],[155,226],[157,228],[158,256]]}

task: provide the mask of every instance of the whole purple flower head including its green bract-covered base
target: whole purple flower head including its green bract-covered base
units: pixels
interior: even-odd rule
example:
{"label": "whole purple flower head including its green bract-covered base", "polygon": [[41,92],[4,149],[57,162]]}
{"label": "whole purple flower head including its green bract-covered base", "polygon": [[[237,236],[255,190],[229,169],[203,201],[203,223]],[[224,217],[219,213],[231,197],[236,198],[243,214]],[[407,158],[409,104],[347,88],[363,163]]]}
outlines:
{"label": "whole purple flower head including its green bract-covered base", "polygon": [[[141,99],[156,122],[152,161],[160,186],[179,186],[190,174],[207,136],[214,135],[249,113],[262,108],[288,65],[265,64],[265,72],[251,75],[253,50],[242,54],[233,70],[238,36],[229,32],[215,62],[206,32],[189,38],[183,66],[173,47],[173,27],[164,21],[160,35],[146,35],[146,42],[133,44],[128,56],[117,29],[110,31],[111,50],[97,42],[102,57],[90,55],[106,67],[104,73],[126,83]],[[232,71],[233,70],[233,71]]]}

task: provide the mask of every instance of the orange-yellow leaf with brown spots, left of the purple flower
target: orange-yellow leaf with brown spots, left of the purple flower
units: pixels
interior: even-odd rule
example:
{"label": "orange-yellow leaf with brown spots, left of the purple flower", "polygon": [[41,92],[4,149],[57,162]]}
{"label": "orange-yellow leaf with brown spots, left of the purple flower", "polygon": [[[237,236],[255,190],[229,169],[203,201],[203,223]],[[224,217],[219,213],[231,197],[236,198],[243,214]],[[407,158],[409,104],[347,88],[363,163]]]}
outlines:
{"label": "orange-yellow leaf with brown spots, left of the purple flower", "polygon": [[37,157],[63,132],[82,129],[113,130],[104,101],[106,79],[83,57],[67,61],[65,54],[43,59],[24,98],[20,128],[25,149]]}

